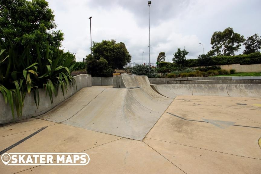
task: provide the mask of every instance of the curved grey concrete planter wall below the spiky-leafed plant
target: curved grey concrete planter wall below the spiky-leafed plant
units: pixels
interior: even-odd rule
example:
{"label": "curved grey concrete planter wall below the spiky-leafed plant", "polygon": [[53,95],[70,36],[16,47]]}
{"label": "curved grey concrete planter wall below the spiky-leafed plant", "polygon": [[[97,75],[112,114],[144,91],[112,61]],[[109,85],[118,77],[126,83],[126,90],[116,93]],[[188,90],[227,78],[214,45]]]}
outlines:
{"label": "curved grey concrete planter wall below the spiky-leafed plant", "polygon": [[36,117],[38,115],[41,115],[52,108],[54,108],[56,105],[63,102],[65,99],[72,96],[74,93],[78,92],[80,89],[85,87],[92,87],[92,76],[87,74],[81,74],[78,76],[73,77],[76,80],[76,86],[75,87],[68,87],[68,91],[64,94],[61,90],[58,91],[58,96],[53,96],[53,104],[50,102],[49,95],[46,96],[46,91],[44,89],[39,89],[39,96],[40,96],[40,104],[39,108],[37,109],[35,102],[34,102],[34,94],[31,92],[30,95],[26,95],[24,98],[24,108],[23,108],[23,114],[22,117],[18,118],[16,115],[16,111],[14,111],[15,116],[13,118],[11,107],[9,104],[5,104],[4,97],[2,93],[0,93],[0,124],[10,123],[13,121],[22,120],[25,118],[31,118]]}

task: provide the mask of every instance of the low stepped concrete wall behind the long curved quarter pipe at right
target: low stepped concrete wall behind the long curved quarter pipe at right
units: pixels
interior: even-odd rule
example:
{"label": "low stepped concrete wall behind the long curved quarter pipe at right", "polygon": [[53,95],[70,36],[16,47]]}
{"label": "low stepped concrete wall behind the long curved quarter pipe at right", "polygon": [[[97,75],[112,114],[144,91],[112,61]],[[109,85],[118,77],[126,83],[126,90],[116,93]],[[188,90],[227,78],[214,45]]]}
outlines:
{"label": "low stepped concrete wall behind the long curved quarter pipe at right", "polygon": [[151,78],[150,84],[249,84],[261,83],[261,76],[256,77],[185,77]]}

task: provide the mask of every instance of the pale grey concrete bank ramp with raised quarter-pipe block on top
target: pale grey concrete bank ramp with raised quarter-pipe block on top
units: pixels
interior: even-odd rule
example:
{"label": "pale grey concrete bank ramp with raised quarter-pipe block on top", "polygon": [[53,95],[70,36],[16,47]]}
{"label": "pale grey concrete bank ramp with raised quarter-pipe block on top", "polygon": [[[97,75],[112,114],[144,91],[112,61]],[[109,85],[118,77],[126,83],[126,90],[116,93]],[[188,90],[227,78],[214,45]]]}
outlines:
{"label": "pale grey concrete bank ramp with raised quarter-pipe block on top", "polygon": [[173,99],[156,93],[147,76],[123,75],[122,80],[129,89],[84,88],[38,118],[143,140]]}

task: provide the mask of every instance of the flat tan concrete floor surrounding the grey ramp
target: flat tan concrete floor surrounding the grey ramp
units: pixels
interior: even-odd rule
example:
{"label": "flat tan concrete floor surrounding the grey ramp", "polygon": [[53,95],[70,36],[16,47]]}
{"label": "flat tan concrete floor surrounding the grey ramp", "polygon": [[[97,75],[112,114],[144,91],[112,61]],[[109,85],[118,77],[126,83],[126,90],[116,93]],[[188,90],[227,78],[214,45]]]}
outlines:
{"label": "flat tan concrete floor surrounding the grey ramp", "polygon": [[[97,92],[99,88],[105,87],[82,90]],[[79,96],[83,95],[81,91]],[[67,103],[70,107],[82,108],[74,104],[73,98],[70,100]],[[88,105],[89,101],[78,100],[78,104]],[[66,107],[61,104],[57,107],[60,111],[54,109],[53,114],[67,113]],[[64,120],[56,120],[57,123],[43,117],[30,118],[0,127],[0,151],[46,127],[7,153],[84,152],[90,156],[90,163],[86,166],[5,166],[0,163],[0,171],[5,174],[258,174],[261,172],[260,116],[261,98],[177,96],[141,141],[67,125]]]}

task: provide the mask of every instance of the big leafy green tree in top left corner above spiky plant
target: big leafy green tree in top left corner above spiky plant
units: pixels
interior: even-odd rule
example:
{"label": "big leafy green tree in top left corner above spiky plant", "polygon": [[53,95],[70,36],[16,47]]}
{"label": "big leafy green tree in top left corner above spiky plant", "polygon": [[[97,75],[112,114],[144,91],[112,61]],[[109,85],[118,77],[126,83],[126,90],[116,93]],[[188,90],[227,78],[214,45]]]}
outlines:
{"label": "big leafy green tree in top left corner above spiky plant", "polygon": [[9,40],[21,50],[29,45],[35,50],[35,43],[46,48],[60,47],[62,31],[54,31],[53,11],[45,0],[1,0],[0,38],[9,44]]}

